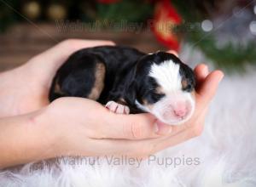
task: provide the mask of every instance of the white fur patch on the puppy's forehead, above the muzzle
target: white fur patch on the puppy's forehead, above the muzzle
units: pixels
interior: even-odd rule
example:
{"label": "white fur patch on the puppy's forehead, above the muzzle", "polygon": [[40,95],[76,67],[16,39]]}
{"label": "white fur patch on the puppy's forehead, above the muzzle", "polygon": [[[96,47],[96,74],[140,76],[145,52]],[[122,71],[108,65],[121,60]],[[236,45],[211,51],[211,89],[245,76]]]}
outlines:
{"label": "white fur patch on the puppy's forehead, above the muzzle", "polygon": [[154,77],[166,93],[177,91],[182,88],[182,77],[179,74],[179,67],[172,60],[166,60],[160,65],[153,64],[149,71],[149,76]]}

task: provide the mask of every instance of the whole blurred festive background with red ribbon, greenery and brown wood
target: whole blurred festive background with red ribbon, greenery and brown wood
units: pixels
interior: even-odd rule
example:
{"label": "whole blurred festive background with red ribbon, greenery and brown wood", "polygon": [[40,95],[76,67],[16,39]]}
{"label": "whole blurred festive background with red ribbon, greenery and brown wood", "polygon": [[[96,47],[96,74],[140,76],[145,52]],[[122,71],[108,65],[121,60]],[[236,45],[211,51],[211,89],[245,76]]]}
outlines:
{"label": "whole blurred festive background with red ribbon, greenery and brown wood", "polygon": [[0,0],[0,71],[67,38],[174,49],[186,63],[245,72],[256,63],[256,1]]}

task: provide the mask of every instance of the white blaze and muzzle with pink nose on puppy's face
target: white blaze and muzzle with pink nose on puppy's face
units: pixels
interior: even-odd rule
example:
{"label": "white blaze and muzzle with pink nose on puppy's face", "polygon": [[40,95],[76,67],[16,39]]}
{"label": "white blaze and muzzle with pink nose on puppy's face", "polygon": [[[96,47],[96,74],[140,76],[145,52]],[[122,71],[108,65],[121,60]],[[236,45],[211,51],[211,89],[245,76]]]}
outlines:
{"label": "white blaze and muzzle with pink nose on puppy's face", "polygon": [[182,77],[179,73],[180,65],[172,60],[166,60],[160,65],[153,64],[149,77],[153,77],[166,96],[154,103],[152,109],[139,107],[156,116],[161,122],[177,125],[187,121],[195,109],[192,95],[182,90]]}

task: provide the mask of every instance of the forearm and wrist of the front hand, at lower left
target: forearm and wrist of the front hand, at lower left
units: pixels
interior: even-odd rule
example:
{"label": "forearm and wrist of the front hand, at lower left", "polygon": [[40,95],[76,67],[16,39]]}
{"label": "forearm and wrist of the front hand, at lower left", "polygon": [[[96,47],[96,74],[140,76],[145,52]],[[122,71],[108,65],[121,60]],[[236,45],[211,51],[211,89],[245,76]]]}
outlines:
{"label": "forearm and wrist of the front hand, at lower left", "polygon": [[40,112],[0,119],[0,168],[57,155],[52,129],[35,122]]}

